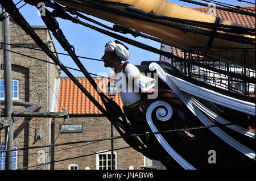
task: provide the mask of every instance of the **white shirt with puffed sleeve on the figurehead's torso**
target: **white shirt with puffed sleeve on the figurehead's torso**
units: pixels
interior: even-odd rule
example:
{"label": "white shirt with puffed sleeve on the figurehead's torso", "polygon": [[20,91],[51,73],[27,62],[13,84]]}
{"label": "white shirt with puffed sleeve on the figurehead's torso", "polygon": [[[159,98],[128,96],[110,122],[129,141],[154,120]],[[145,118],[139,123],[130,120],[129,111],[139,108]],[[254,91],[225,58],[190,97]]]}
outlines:
{"label": "white shirt with puffed sleeve on the figurehead's torso", "polygon": [[[141,92],[155,86],[155,79],[143,75],[133,64],[127,64],[125,73],[122,69],[115,76],[117,91],[125,106],[135,106],[141,99]],[[134,84],[134,89],[133,89]]]}

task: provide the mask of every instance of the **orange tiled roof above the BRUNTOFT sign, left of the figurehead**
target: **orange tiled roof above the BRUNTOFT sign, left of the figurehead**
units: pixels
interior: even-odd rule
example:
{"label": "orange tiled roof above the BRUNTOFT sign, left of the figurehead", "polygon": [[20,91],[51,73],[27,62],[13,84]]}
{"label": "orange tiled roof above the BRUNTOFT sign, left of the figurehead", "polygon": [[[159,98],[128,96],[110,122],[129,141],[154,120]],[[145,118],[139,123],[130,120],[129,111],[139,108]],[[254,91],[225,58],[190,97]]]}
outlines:
{"label": "orange tiled roof above the BRUNTOFT sign, left of the figurehead", "polygon": [[[77,78],[78,81],[85,87],[86,90],[104,107],[100,96],[90,85],[88,79]],[[108,84],[108,79],[97,79],[94,81],[103,91]],[[107,95],[107,94],[106,94]],[[100,114],[100,110],[82,93],[82,91],[71,81],[69,78],[60,78],[59,96],[60,103],[57,105],[57,112],[62,112],[61,106],[63,106],[68,113],[71,114]],[[113,99],[119,106],[123,106],[122,100],[117,93]]]}

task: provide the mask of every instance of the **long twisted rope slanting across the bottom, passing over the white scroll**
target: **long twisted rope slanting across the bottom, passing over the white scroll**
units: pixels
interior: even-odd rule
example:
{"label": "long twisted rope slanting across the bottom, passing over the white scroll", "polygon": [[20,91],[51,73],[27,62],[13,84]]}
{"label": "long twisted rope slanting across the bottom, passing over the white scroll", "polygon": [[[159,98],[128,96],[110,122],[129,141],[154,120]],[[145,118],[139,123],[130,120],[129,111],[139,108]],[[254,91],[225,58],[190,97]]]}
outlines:
{"label": "long twisted rope slanting across the bottom, passing over the white scroll", "polygon": [[162,134],[162,133],[170,133],[170,132],[177,132],[177,131],[192,131],[192,130],[197,130],[197,129],[206,129],[206,128],[214,128],[214,127],[225,127],[225,126],[234,125],[234,124],[236,124],[236,123],[218,124],[218,125],[207,125],[207,126],[200,126],[200,127],[181,128],[181,129],[172,129],[172,130],[161,131],[161,132],[131,134],[131,135],[127,135],[127,136],[115,136],[115,137],[109,137],[109,138],[98,138],[98,139],[95,139],[95,140],[85,140],[85,141],[75,141],[75,142],[64,142],[64,143],[62,143],[62,144],[52,144],[52,145],[42,145],[42,146],[30,146],[30,147],[27,147],[27,148],[17,148],[17,149],[10,149],[10,150],[0,150],[0,153],[6,153],[6,152],[18,151],[18,150],[29,150],[29,149],[46,148],[46,147],[52,147],[52,146],[63,146],[63,145],[81,144],[81,143],[86,143],[86,142],[116,140],[116,139],[120,139],[120,138],[130,138],[130,137],[148,136],[148,135]]}

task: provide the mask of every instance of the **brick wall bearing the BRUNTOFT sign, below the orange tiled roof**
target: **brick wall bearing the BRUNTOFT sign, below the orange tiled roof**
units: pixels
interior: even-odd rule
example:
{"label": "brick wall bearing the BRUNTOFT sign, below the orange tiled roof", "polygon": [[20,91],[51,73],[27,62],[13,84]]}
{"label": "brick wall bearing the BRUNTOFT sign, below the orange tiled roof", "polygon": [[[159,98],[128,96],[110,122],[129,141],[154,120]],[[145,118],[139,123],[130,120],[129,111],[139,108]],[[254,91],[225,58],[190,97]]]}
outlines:
{"label": "brick wall bearing the BRUNTOFT sign, below the orange tiled roof", "polygon": [[[63,123],[63,119],[55,119],[55,137],[60,129],[60,124]],[[94,140],[97,138],[110,137],[110,121],[106,117],[76,117],[69,118],[65,123],[82,123],[84,124],[84,132],[80,133],[60,133],[57,143]],[[118,132],[114,130],[114,136],[119,136]],[[77,157],[80,155],[87,155],[97,153],[98,151],[111,150],[111,141],[100,141],[95,144],[81,146],[79,148],[62,150],[66,148],[72,148],[74,146],[85,145],[65,145],[55,147],[55,161],[65,158]],[[114,149],[123,148],[129,146],[123,139],[114,140]],[[57,151],[62,150],[62,151]],[[84,170],[85,167],[90,169],[96,169],[96,155],[90,155],[88,157],[82,157],[77,159],[71,159],[64,162],[55,163],[55,169],[68,169],[68,165],[77,164],[79,169]],[[134,169],[141,169],[144,166],[144,157],[138,151],[132,148],[117,150],[117,169],[126,170],[129,166],[133,166]]]}

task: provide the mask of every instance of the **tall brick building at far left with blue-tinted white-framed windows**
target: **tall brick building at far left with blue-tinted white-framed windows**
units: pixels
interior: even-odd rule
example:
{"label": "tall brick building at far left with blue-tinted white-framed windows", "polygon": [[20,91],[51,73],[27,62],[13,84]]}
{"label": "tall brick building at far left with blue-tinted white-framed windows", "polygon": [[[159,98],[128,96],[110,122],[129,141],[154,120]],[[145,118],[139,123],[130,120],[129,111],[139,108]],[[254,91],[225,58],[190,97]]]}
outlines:
{"label": "tall brick building at far left with blue-tinted white-framed windows", "polygon": [[[52,44],[52,37],[45,26],[32,26],[36,33],[40,36],[45,44],[47,44],[52,51],[56,51]],[[10,19],[10,36],[11,36],[11,50],[14,52],[27,54],[28,56],[48,60],[49,57],[40,50],[32,50],[27,48],[17,48],[15,45],[26,46],[31,48],[39,48],[38,45],[26,35],[26,33]],[[3,22],[0,22],[0,41],[3,42]],[[1,44],[3,47],[3,44]],[[4,108],[4,94],[3,94],[3,50],[1,52],[1,108]],[[59,76],[59,69],[57,66],[45,62],[36,61],[34,58],[28,58],[19,54],[11,53],[11,68],[13,78],[13,101],[15,102],[30,102],[42,103],[40,112],[47,112],[51,110],[52,90],[48,87],[47,79],[51,85],[54,85],[55,78]],[[48,106],[49,105],[49,106]],[[24,107],[14,106],[14,111],[23,110]],[[1,117],[1,120],[3,117]],[[39,146],[49,144],[47,141],[47,134],[49,134],[50,124],[49,119],[46,118],[23,118],[14,123],[14,147],[23,148],[27,146]],[[48,130],[47,130],[48,128]],[[38,139],[38,135],[42,134],[43,138]],[[1,131],[2,149],[5,149],[5,131]],[[47,151],[46,148],[42,149]],[[20,150],[14,153],[14,167],[20,169],[22,167],[38,165],[38,149]],[[0,169],[3,169],[5,154],[1,155]],[[31,169],[40,169],[34,167]]]}

